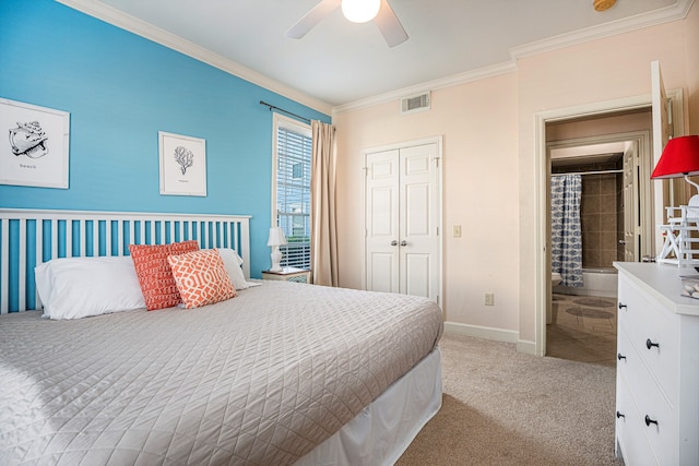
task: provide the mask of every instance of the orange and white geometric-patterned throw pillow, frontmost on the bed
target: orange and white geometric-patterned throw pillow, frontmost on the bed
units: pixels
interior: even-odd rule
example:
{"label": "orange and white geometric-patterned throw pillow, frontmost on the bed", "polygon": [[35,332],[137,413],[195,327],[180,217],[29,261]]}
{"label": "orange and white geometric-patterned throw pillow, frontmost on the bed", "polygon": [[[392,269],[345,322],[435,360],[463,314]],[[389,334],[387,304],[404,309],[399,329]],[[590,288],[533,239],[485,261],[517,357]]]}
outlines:
{"label": "orange and white geometric-patterned throw pillow, frontmost on the bed", "polygon": [[228,272],[215,249],[167,258],[187,309],[213,304],[236,296]]}

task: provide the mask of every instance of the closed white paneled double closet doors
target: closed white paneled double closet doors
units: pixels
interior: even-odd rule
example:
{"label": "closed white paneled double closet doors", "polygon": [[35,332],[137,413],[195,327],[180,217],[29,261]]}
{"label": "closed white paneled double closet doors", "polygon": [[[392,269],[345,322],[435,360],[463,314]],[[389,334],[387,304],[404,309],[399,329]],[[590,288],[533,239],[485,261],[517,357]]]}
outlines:
{"label": "closed white paneled double closet doors", "polygon": [[366,155],[367,289],[438,301],[439,159],[436,143]]}

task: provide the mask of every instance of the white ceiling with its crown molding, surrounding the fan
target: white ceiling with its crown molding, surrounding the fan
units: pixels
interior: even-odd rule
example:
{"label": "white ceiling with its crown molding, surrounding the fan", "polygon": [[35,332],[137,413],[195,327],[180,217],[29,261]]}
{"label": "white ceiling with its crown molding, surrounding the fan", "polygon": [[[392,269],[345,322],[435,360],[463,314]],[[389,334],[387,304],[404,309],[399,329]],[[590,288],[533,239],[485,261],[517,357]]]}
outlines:
{"label": "white ceiling with its crown molding, surrounding the fan", "polygon": [[694,0],[390,0],[410,39],[387,46],[340,9],[284,33],[320,0],[59,0],[321,111],[514,69],[538,51],[684,17]]}

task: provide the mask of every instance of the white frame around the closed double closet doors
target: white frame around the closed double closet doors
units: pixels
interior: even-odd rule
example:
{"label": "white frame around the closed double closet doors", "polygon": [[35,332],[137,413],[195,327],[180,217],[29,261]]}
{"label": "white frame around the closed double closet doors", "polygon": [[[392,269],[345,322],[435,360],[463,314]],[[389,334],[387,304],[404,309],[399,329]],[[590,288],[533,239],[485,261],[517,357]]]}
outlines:
{"label": "white frame around the closed double closet doors", "polygon": [[[366,177],[366,170],[367,170],[367,166],[366,166],[366,158],[367,158],[367,154],[371,154],[375,152],[384,152],[384,151],[395,151],[395,150],[401,150],[401,148],[406,148],[406,147],[412,147],[412,146],[416,146],[416,145],[426,145],[426,144],[436,144],[437,145],[437,182],[439,183],[439,187],[437,189],[437,192],[439,193],[439,199],[438,199],[438,212],[437,212],[437,225],[439,225],[439,285],[438,285],[438,300],[437,303],[439,306],[441,306],[443,308],[443,302],[445,302],[445,294],[443,294],[443,268],[445,268],[445,260],[443,260],[443,254],[442,254],[442,250],[443,250],[443,225],[442,225],[442,166],[443,166],[443,151],[442,151],[442,136],[441,135],[437,135],[437,136],[431,136],[431,138],[425,138],[425,139],[419,139],[419,140],[413,140],[413,141],[404,141],[404,142],[399,142],[399,143],[393,143],[393,144],[387,144],[387,145],[380,145],[380,146],[374,146],[374,147],[367,147],[367,148],[363,148],[362,150],[362,171],[364,172],[364,176],[362,177],[362,206],[364,210],[366,210],[366,205],[367,205],[367,195],[366,195],[366,191],[367,191],[367,177]],[[364,287],[364,289],[367,289],[367,263],[366,263],[366,250],[367,250],[367,220],[366,220],[366,214],[362,216],[362,230],[364,231],[364,234],[362,235],[362,254],[365,259],[362,260],[362,286]]]}

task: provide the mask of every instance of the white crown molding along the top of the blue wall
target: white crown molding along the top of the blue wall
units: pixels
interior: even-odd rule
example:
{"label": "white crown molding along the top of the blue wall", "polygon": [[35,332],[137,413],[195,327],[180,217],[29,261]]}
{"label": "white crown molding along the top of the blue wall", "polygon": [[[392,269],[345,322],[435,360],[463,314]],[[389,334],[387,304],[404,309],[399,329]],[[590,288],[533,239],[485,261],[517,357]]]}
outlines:
{"label": "white crown molding along the top of the blue wall", "polygon": [[156,44],[179,51],[196,60],[210,64],[241,80],[248,81],[265,89],[272,91],[299,104],[312,108],[325,115],[332,112],[332,106],[325,101],[311,97],[305,93],[294,89],[285,84],[274,81],[257,71],[246,68],[233,60],[224,58],[217,53],[206,50],[196,44],[190,43],[175,34],[156,27],[145,21],[126,14],[115,8],[106,5],[96,0],[57,0],[73,10],[78,10],[90,16],[102,20],[121,29],[137,34]]}

